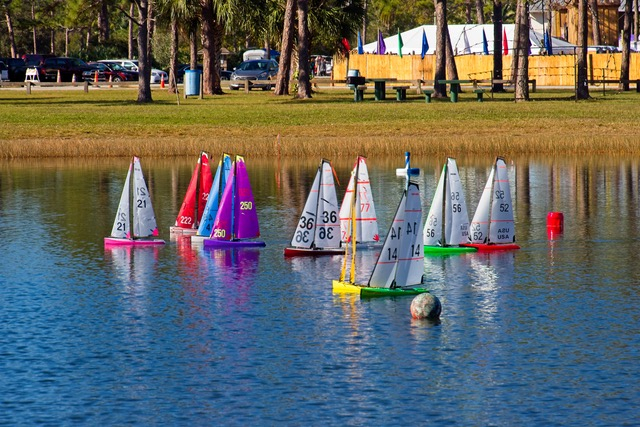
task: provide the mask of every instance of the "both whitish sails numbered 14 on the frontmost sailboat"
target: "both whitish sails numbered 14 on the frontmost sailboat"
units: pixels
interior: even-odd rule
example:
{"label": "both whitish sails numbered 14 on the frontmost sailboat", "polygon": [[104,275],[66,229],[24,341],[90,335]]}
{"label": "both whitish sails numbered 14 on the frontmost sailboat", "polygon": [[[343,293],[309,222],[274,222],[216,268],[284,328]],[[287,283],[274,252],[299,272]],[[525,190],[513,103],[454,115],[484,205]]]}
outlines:
{"label": "both whitish sails numbered 14 on the frontmost sailboat", "polygon": [[421,282],[424,271],[420,190],[409,183],[369,278],[376,288],[403,287]]}

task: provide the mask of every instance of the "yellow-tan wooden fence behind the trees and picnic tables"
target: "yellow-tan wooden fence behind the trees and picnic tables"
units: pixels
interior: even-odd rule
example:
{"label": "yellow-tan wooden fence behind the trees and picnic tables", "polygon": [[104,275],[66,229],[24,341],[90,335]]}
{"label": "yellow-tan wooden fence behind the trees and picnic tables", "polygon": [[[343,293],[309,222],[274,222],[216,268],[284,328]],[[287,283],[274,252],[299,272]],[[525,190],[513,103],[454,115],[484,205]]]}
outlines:
{"label": "yellow-tan wooden fence behind the trees and picnic tables", "polygon": [[[620,78],[621,53],[593,53],[588,55],[589,80],[616,80]],[[529,78],[538,86],[574,86],[575,55],[535,55],[529,57]],[[366,78],[396,78],[398,80],[433,80],[435,55],[351,55],[334,58],[333,79],[344,80],[347,69],[360,71]],[[502,77],[511,77],[511,55],[502,60]],[[493,56],[456,56],[460,79],[490,79],[493,71]],[[640,79],[640,53],[631,54],[629,80]]]}

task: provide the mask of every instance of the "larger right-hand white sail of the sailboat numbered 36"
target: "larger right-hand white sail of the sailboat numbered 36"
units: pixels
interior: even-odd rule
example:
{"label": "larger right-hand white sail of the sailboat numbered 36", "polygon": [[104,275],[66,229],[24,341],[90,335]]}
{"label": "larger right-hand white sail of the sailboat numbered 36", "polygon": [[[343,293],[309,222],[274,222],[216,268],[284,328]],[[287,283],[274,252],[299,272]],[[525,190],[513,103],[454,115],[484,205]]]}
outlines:
{"label": "larger right-hand white sail of the sailboat numbered 36", "polygon": [[[338,196],[336,194],[335,181],[333,180],[333,168],[329,161],[323,160],[321,169],[322,175],[316,206],[315,246],[317,248],[339,248]],[[320,170],[318,170],[318,174],[320,174]],[[309,196],[311,197],[311,195]]]}

